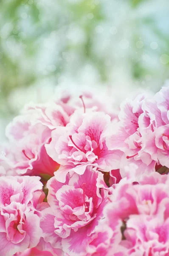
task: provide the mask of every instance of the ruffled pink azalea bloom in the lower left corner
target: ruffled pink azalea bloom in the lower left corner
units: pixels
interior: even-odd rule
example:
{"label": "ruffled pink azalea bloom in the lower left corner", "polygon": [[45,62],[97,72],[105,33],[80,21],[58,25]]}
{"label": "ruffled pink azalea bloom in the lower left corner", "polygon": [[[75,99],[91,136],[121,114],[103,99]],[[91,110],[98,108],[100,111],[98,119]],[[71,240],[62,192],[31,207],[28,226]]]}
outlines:
{"label": "ruffled pink azalea bloom in the lower left corner", "polygon": [[39,179],[0,177],[0,255],[12,256],[39,243],[39,210],[46,204]]}

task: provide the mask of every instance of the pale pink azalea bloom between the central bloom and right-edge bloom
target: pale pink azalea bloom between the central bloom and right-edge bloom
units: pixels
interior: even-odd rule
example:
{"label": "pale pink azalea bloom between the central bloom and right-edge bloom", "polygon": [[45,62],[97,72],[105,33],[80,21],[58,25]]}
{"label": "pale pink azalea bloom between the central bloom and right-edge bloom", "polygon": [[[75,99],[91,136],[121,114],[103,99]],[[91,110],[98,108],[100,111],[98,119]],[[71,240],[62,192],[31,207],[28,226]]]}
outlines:
{"label": "pale pink azalea bloom between the central bloom and right-edge bloom", "polygon": [[120,158],[120,174],[125,177],[125,166],[135,163],[138,166],[136,180],[142,173],[155,172],[155,161],[151,154],[142,150],[143,142],[140,133],[139,118],[143,113],[145,97],[138,95],[133,101],[127,99],[121,104],[120,122],[106,138],[108,148],[121,150],[124,154]]}

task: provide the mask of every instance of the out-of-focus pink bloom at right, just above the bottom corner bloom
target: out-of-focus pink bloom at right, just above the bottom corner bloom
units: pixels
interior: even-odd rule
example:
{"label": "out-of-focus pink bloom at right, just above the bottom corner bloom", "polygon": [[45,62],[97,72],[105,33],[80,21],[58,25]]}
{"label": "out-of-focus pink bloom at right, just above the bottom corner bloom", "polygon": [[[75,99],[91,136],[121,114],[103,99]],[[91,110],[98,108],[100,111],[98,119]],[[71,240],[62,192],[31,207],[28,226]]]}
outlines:
{"label": "out-of-focus pink bloom at right, just above the bottom corner bloom", "polygon": [[124,220],[130,214],[155,215],[163,211],[164,202],[169,202],[169,177],[166,176],[161,177],[158,173],[143,175],[141,184],[136,185],[130,179],[122,179],[113,192],[112,204],[115,202],[117,206],[112,209],[113,215]]}

